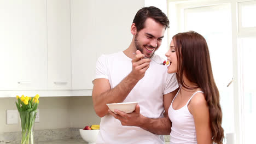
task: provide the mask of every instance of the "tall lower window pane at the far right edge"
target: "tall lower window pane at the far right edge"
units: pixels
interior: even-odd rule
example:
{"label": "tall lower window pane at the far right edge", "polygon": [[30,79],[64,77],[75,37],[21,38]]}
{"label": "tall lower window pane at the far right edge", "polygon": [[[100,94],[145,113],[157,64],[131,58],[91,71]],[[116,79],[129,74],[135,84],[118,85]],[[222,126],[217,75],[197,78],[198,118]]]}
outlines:
{"label": "tall lower window pane at the far right edge", "polygon": [[[254,64],[254,53],[256,38],[241,39],[241,67],[243,82],[243,131],[245,143],[254,141],[254,129],[256,129],[256,89],[255,81],[256,68]],[[254,61],[254,62],[253,62]]]}

